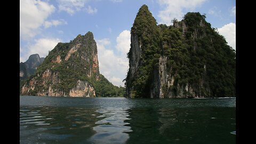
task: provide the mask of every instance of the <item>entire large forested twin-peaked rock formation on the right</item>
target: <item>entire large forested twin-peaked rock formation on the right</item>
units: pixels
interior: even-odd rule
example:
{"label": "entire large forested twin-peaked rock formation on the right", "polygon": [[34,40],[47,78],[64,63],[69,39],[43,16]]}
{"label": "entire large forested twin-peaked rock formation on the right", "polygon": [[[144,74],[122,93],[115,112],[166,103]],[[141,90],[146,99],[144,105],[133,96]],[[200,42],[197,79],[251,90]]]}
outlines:
{"label": "entire large forested twin-peaked rock formation on the right", "polygon": [[127,57],[127,97],[235,97],[235,51],[200,13],[157,26],[142,5]]}

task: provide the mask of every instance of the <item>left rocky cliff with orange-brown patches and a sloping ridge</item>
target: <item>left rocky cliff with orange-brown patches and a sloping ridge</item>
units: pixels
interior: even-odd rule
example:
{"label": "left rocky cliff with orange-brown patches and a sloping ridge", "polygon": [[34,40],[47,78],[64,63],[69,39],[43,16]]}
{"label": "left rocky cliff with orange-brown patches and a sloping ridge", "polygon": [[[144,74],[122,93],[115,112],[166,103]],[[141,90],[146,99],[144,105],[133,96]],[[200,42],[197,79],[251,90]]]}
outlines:
{"label": "left rocky cliff with orange-brown patches and a sloping ridge", "polygon": [[89,31],[70,43],[58,43],[22,85],[20,94],[95,97],[91,82],[99,79],[97,45]]}

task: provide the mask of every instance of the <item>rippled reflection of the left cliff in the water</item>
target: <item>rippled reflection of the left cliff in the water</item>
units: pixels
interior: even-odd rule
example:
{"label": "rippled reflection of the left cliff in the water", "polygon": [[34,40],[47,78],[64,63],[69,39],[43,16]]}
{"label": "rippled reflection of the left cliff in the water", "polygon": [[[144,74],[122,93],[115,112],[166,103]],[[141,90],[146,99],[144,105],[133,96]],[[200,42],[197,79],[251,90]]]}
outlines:
{"label": "rippled reflection of the left cliff in the water", "polygon": [[20,143],[91,143],[95,109],[20,107]]}

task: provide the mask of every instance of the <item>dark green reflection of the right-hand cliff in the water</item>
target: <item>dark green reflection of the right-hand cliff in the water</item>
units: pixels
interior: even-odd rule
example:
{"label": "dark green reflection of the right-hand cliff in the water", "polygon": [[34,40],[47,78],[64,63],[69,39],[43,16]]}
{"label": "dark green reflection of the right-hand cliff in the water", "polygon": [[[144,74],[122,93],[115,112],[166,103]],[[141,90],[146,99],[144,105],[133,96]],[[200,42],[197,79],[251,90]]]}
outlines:
{"label": "dark green reflection of the right-hand cliff in the water", "polygon": [[[137,107],[129,110],[132,132],[126,143],[205,143],[205,141],[233,140],[229,123],[230,115],[224,115],[222,108],[181,107]],[[227,108],[223,108],[227,109]],[[231,109],[231,108],[230,108]],[[221,132],[223,130],[223,133]],[[234,129],[235,130],[235,129]],[[228,137],[221,137],[226,134]],[[229,139],[225,139],[229,138]]]}

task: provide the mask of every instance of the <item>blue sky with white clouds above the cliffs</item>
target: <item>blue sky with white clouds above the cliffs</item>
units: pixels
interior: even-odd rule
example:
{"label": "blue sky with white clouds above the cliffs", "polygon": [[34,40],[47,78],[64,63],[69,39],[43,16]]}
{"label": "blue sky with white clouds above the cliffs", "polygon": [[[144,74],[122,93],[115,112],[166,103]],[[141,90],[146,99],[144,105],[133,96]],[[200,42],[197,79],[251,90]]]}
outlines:
{"label": "blue sky with white clouds above the cliffs", "polygon": [[206,21],[236,49],[235,0],[20,0],[20,62],[35,53],[46,57],[59,42],[91,31],[100,73],[114,85],[124,86],[130,30],[143,4],[158,24],[168,26],[187,12],[206,14]]}

